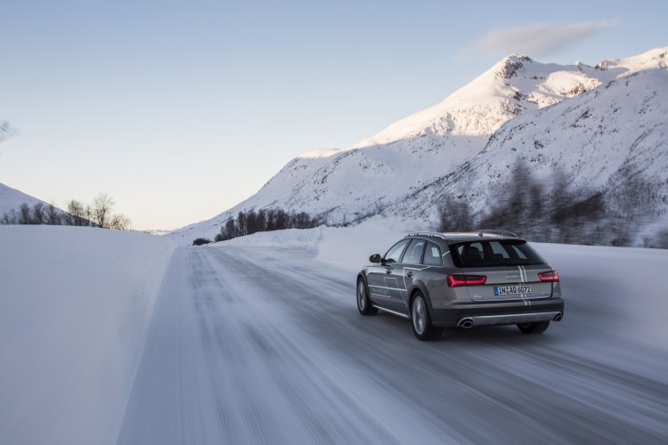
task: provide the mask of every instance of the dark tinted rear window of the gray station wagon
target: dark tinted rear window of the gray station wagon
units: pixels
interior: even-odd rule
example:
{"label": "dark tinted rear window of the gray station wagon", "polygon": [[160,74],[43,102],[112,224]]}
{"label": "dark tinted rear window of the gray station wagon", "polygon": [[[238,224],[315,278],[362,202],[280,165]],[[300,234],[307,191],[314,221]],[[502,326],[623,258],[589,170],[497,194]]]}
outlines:
{"label": "dark tinted rear window of the gray station wagon", "polygon": [[454,264],[462,268],[545,264],[526,241],[517,239],[458,243],[450,247],[450,252]]}

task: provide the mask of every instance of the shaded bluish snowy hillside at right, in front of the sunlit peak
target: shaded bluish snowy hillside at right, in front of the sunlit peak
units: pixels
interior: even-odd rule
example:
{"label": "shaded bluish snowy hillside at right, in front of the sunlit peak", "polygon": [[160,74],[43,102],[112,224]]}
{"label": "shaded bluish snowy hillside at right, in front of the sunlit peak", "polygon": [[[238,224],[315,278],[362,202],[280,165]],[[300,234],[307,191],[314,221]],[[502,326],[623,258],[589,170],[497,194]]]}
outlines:
{"label": "shaded bluish snowy hillside at right, in front of the sunlit peak", "polygon": [[[600,229],[627,225],[624,234],[632,245],[656,239],[668,231],[665,57],[665,52],[655,54],[654,66],[643,64],[595,90],[516,117],[457,172],[387,211],[435,220],[443,197],[452,196],[473,214],[491,214],[501,206],[517,207],[509,202],[515,191],[536,185],[542,188],[542,204],[557,193],[585,204],[596,197],[603,206]],[[530,202],[524,206],[540,212]],[[525,208],[514,210],[522,214]]]}

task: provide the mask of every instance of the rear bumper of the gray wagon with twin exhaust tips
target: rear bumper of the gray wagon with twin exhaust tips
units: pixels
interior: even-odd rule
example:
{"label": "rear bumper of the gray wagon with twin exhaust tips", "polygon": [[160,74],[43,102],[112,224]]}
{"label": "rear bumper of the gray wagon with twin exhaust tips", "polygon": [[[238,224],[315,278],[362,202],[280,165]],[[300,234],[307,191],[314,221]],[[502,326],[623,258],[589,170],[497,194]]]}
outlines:
{"label": "rear bumper of the gray wagon with twin exhaust tips", "polygon": [[432,302],[434,326],[514,325],[535,321],[558,321],[564,314],[564,300],[550,297],[544,300],[512,302]]}

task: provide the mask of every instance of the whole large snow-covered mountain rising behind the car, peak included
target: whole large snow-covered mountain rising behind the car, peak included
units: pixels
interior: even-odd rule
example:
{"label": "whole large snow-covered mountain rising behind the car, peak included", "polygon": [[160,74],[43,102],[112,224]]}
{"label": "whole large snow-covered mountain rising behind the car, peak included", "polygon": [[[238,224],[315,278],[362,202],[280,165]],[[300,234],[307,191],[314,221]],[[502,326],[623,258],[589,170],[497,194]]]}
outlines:
{"label": "whole large snow-covered mountain rising behind the car, peak included", "polygon": [[175,235],[213,237],[239,211],[267,207],[330,224],[385,212],[436,226],[451,196],[481,220],[520,167],[548,190],[601,192],[607,214],[640,199],[631,209],[655,227],[668,208],[667,63],[668,47],[596,67],[509,56],[371,138],[293,159],[255,196]]}

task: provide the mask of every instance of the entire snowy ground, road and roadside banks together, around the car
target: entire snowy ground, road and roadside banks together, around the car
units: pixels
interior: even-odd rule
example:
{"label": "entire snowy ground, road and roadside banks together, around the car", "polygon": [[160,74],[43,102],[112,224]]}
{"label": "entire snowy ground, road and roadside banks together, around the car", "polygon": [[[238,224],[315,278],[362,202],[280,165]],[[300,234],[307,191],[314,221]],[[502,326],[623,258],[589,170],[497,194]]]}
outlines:
{"label": "entire snowy ground, road and roadside banks together, around the car", "polygon": [[[161,266],[127,254],[164,270],[167,240],[111,247],[49,228],[34,242],[41,228],[0,227],[0,443],[668,441],[668,252],[536,245],[561,274],[564,320],[542,336],[452,328],[422,343],[409,321],[354,303],[355,272],[411,227],[176,249],[151,326],[146,290],[129,331],[132,289],[153,288]],[[102,263],[84,259],[102,246]],[[54,252],[56,274],[86,277],[78,287],[46,286]]]}

